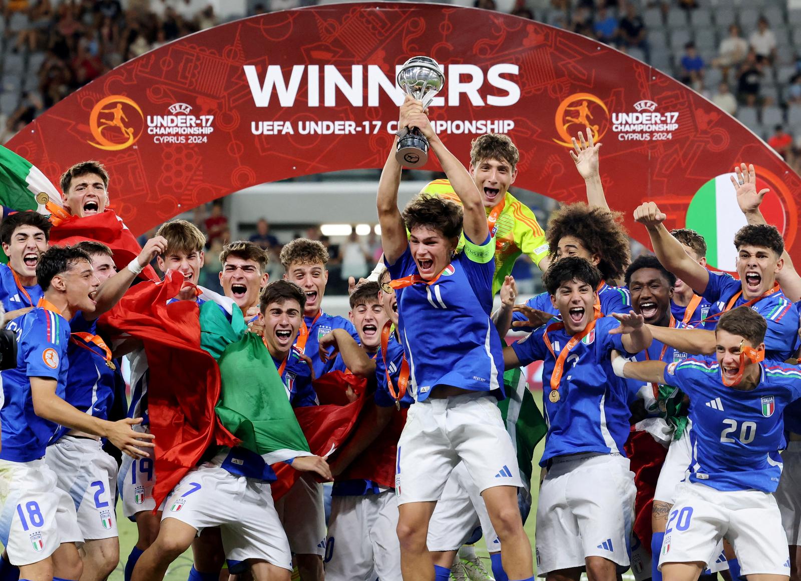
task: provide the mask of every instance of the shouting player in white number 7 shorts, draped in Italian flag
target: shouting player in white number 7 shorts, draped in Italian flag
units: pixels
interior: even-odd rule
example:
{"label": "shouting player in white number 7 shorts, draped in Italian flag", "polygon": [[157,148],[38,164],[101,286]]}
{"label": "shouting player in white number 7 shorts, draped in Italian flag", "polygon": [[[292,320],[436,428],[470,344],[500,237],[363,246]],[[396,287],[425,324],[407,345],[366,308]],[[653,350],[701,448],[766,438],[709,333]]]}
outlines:
{"label": "shouting player in white number 7 shorts, draped in Italian flag", "polygon": [[[261,295],[264,343],[282,379],[288,374],[304,301],[304,291],[283,280],[265,286]],[[296,399],[298,386],[284,382],[289,399]],[[159,535],[139,558],[132,579],[163,579],[167,566],[187,550],[195,535],[207,527],[220,527],[229,560],[244,562],[256,581],[288,581],[292,556],[270,491],[276,478],[270,464],[276,462],[331,479],[328,463],[308,452],[283,450],[261,456],[240,447],[223,448],[188,472],[171,492],[167,500],[171,507],[163,513]]]}

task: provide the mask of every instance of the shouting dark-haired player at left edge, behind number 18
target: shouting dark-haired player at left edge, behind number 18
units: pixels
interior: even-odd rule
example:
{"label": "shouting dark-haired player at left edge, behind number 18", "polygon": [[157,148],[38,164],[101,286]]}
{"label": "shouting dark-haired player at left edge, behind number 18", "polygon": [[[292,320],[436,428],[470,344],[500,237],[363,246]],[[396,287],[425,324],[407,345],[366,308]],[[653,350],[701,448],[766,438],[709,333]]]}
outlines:
{"label": "shouting dark-haired player at left edge, behind number 18", "polygon": [[16,212],[0,223],[0,242],[8,265],[0,264],[0,302],[6,322],[25,315],[42,299],[36,265],[47,250],[50,221],[34,211]]}

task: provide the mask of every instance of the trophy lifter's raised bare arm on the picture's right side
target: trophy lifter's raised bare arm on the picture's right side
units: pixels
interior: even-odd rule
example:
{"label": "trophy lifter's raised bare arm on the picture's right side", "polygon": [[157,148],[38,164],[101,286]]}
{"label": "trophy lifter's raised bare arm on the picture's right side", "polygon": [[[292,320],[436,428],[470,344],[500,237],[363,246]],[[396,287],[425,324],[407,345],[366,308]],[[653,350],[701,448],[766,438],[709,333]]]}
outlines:
{"label": "trophy lifter's raised bare arm on the picture's right side", "polygon": [[[414,101],[417,108],[409,114],[409,126],[417,127],[420,132],[429,140],[429,146],[437,155],[440,161],[442,170],[453,186],[453,191],[459,196],[461,205],[465,209],[464,230],[465,236],[476,244],[481,244],[489,234],[489,227],[487,226],[487,213],[484,210],[484,200],[481,198],[481,193],[478,191],[473,178],[467,173],[467,169],[462,163],[453,156],[453,154],[445,147],[434,129],[429,122],[429,118],[425,116],[422,110],[422,104],[419,101]],[[382,226],[383,227],[383,226]]]}

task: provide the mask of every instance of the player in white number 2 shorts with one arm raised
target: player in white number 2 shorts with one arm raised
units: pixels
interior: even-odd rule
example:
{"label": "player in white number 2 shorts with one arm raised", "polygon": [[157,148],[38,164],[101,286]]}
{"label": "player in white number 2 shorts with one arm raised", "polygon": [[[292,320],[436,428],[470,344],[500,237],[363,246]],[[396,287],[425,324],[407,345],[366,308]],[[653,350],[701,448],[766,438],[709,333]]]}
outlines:
{"label": "player in white number 2 shorts with one arm raised", "polygon": [[[95,295],[95,309],[75,313],[70,320],[67,347],[69,370],[64,400],[78,411],[98,419],[108,419],[115,395],[116,365],[111,349],[97,335],[97,319],[122,297],[137,272],[156,254],[163,252],[167,241],[161,237],[148,240],[131,268],[117,272],[111,249],[100,242],[78,242],[74,246],[91,258],[95,277],[100,282]],[[17,323],[10,323],[16,327]],[[81,581],[101,581],[111,575],[119,563],[119,540],[114,503],[117,490],[117,463],[103,451],[98,435],[59,427],[47,446],[47,466],[54,471],[57,485],[78,503],[78,528],[83,536],[83,575]],[[83,491],[83,495],[76,495]]]}

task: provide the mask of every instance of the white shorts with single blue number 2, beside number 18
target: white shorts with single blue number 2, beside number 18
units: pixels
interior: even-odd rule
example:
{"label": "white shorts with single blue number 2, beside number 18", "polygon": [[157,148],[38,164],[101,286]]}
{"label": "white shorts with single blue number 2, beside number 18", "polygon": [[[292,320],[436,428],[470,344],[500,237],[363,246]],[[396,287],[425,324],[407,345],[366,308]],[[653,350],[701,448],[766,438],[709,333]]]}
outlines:
{"label": "white shorts with single blue number 2, beside number 18", "polygon": [[117,535],[115,498],[117,462],[91,438],[65,435],[47,447],[45,462],[58,478],[58,487],[72,497],[84,539],[113,539]]}

